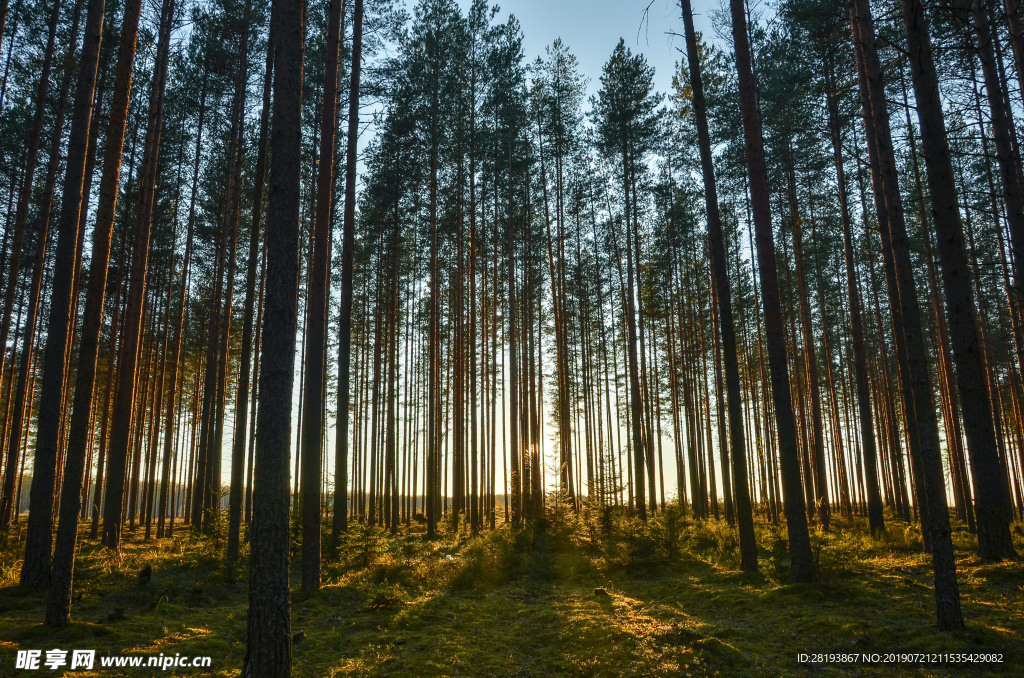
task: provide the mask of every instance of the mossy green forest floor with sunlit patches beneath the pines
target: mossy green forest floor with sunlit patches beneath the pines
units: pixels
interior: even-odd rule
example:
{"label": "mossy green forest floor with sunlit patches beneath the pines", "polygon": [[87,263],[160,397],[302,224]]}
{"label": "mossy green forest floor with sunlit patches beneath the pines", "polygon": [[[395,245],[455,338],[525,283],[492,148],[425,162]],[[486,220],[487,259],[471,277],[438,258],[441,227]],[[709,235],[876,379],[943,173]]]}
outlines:
{"label": "mossy green forest floor with sunlit patches beneath the pines", "polygon": [[[760,571],[738,571],[724,521],[678,511],[649,524],[553,512],[544,529],[501,527],[426,542],[355,525],[324,587],[299,592],[293,548],[294,674],[329,676],[1024,675],[1024,565],[986,563],[956,527],[967,630],[935,627],[930,559],[915,528],[862,522],[814,534],[820,581],[787,581],[784,527],[758,522]],[[841,522],[841,521],[836,521]],[[23,523],[24,524],[24,523]],[[1024,554],[1024,531],[1014,527]],[[44,594],[16,588],[22,543],[0,543],[0,676],[17,649],[97,656],[209,655],[210,669],[98,669],[67,675],[239,675],[247,568],[223,562],[223,535],[129,537],[114,554],[83,539],[74,622],[42,626]],[[139,573],[152,565],[152,580]],[[800,653],[857,653],[812,664]],[[886,653],[997,654],[1001,663],[885,663]],[[863,653],[879,653],[865,662]],[[812,656],[813,659],[813,656]],[[897,658],[899,659],[899,658]],[[52,675],[43,669],[40,673]]]}

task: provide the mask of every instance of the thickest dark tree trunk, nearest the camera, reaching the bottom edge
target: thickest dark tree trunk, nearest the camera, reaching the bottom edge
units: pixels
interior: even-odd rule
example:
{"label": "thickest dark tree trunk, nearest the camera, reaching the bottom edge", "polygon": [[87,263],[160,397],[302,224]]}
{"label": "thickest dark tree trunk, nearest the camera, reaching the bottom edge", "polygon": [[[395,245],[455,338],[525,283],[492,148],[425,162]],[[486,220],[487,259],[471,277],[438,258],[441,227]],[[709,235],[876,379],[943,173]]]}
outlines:
{"label": "thickest dark tree trunk, nearest the camera, reaching the bottom edge", "polygon": [[291,673],[288,586],[288,462],[298,316],[299,208],[302,172],[303,0],[278,0],[266,290],[256,423],[256,477],[249,557],[246,678]]}

